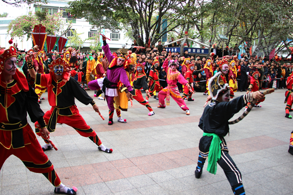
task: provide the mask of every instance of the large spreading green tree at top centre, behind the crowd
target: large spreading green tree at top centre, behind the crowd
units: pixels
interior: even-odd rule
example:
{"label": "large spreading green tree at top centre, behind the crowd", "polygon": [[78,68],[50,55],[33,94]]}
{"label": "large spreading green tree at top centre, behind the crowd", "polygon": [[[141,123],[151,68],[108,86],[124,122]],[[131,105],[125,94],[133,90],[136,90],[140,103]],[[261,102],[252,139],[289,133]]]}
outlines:
{"label": "large spreading green tree at top centre, behind the crowd", "polygon": [[69,6],[71,14],[85,18],[98,29],[130,28],[131,37],[144,45],[149,38],[152,43],[162,38],[163,19],[168,22],[166,33],[191,23],[187,18],[196,8],[196,2],[188,3],[186,0],[74,0]]}

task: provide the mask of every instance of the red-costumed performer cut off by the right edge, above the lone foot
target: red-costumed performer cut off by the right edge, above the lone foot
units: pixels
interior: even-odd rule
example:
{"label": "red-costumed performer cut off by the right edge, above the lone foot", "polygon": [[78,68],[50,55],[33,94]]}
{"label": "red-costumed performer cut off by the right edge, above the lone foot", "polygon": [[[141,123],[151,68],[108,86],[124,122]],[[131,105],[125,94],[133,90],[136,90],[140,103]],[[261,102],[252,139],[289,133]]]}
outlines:
{"label": "red-costumed performer cut off by the right edge, above the lone foot", "polygon": [[293,102],[293,72],[291,75],[287,78],[286,81],[287,84],[287,91],[285,92],[285,101],[284,103],[287,103],[285,111],[286,111],[286,118],[292,119],[292,116],[289,114],[289,112],[292,112],[292,102]]}

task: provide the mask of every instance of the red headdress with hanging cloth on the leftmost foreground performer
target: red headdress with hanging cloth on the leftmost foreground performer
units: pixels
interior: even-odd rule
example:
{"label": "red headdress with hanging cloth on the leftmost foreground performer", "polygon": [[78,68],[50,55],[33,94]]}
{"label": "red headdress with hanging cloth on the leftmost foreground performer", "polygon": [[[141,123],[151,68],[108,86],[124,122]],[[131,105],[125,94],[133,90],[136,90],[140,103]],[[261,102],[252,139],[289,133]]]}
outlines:
{"label": "red headdress with hanging cloth on the leftmost foreground performer", "polygon": [[[0,50],[0,80],[1,80],[1,76],[2,76],[2,71],[5,67],[5,61],[11,57],[16,58],[17,57],[16,52],[17,52],[17,50],[13,46],[10,46],[6,50],[4,50],[4,49]],[[16,73],[12,77],[17,80],[17,84],[20,89],[23,89],[24,91],[29,90],[28,83],[27,83],[25,76],[18,69],[16,69]]]}

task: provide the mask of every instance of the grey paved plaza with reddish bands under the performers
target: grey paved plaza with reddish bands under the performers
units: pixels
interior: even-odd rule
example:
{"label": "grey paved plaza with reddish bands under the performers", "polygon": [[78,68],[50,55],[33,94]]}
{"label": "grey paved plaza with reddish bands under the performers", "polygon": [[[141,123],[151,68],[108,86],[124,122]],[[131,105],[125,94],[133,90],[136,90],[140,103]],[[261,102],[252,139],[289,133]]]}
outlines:
{"label": "grey paved plaza with reddish bands under the performers", "polygon": [[[267,95],[260,103],[262,108],[253,108],[242,121],[230,125],[230,136],[225,137],[247,195],[293,195],[293,156],[288,153],[293,120],[284,117],[285,91]],[[87,93],[93,98],[93,91]],[[237,92],[235,97],[244,94]],[[46,99],[41,108],[46,112],[50,109],[47,93],[43,97]],[[61,181],[76,186],[78,195],[232,195],[219,166],[216,175],[212,175],[206,170],[206,162],[201,178],[194,176],[198,143],[203,135],[198,122],[207,96],[196,93],[193,98],[194,102],[186,101],[189,116],[172,98],[165,109],[157,108],[158,100],[150,98],[155,112],[151,117],[145,106],[133,100],[133,107],[129,103],[128,112],[121,112],[127,123],[117,122],[114,113],[112,126],[107,125],[104,100],[94,98],[104,121],[91,105],[76,100],[85,121],[113,153],[99,151],[89,138],[58,124],[50,134],[58,151],[45,154]],[[243,111],[244,108],[233,118]],[[30,125],[33,127],[32,122]],[[53,191],[42,174],[28,171],[15,156],[10,156],[0,171],[0,195],[53,195]]]}

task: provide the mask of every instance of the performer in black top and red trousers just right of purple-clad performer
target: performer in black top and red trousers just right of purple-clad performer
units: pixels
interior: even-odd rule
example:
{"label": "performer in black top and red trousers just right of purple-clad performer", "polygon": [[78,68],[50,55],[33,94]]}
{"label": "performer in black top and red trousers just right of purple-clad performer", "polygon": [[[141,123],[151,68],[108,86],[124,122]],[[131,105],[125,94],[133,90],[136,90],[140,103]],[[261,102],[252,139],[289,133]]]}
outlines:
{"label": "performer in black top and red trousers just right of purple-clad performer", "polygon": [[145,66],[137,63],[136,64],[136,73],[132,83],[132,91],[130,92],[135,100],[137,100],[140,104],[146,106],[149,110],[148,116],[154,115],[153,109],[150,107],[149,103],[143,98],[141,88],[146,91],[146,94],[149,95],[148,87],[146,83],[146,73],[145,73]]}

